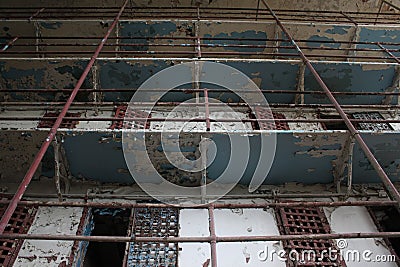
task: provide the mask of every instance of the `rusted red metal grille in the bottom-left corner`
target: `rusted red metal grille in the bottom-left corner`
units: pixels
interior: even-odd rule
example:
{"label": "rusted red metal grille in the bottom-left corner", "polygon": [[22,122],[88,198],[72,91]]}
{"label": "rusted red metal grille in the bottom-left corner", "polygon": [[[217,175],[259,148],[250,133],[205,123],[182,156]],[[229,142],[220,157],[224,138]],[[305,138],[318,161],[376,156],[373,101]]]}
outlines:
{"label": "rusted red metal grille in the bottom-left corner", "polygon": [[[6,207],[0,207],[0,214],[3,216]],[[17,207],[12,215],[5,234],[26,234],[35,218],[37,208],[35,207]],[[1,239],[0,240],[0,266],[12,266],[20,250],[22,239]]]}

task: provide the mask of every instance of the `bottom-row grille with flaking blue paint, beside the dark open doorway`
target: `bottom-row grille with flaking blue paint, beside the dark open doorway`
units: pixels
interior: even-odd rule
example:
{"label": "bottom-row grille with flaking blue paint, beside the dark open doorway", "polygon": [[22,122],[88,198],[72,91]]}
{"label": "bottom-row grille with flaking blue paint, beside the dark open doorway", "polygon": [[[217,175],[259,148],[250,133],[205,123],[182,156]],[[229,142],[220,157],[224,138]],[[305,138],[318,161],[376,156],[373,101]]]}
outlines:
{"label": "bottom-row grille with flaking blue paint, beside the dark open doorway", "polygon": [[[175,208],[137,208],[132,234],[137,237],[178,236],[178,216]],[[177,243],[130,243],[127,266],[175,267],[177,260]]]}

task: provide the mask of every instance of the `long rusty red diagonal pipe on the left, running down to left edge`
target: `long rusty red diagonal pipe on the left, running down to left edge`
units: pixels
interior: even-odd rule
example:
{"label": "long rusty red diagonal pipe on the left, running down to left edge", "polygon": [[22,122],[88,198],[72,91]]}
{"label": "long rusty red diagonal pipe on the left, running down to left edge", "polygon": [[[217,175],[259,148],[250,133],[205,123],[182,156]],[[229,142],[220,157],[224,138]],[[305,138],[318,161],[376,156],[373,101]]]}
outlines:
{"label": "long rusty red diagonal pipe on the left, running down to left edge", "polygon": [[33,163],[29,167],[24,179],[20,183],[15,195],[13,196],[11,202],[9,203],[9,205],[8,205],[4,215],[3,215],[3,217],[0,220],[0,234],[2,234],[4,232],[4,229],[6,228],[8,222],[9,222],[11,216],[12,216],[12,214],[14,213],[14,211],[15,211],[17,205],[18,205],[18,202],[21,200],[23,194],[26,191],[26,188],[28,187],[29,183],[32,180],[33,175],[35,174],[36,170],[38,169],[39,164],[42,161],[44,154],[46,153],[48,147],[50,146],[51,141],[54,139],[54,137],[55,137],[55,135],[57,133],[57,130],[61,125],[61,122],[62,122],[63,118],[67,114],[67,111],[68,111],[69,107],[71,106],[72,102],[74,101],[75,96],[77,95],[79,89],[81,88],[85,78],[89,74],[89,71],[92,68],[94,62],[96,61],[96,58],[100,54],[100,51],[103,48],[104,43],[107,41],[108,36],[111,34],[111,32],[114,29],[115,25],[118,23],[118,20],[121,17],[122,12],[124,11],[127,2],[128,2],[128,0],[125,0],[124,4],[122,5],[122,7],[121,7],[121,9],[119,11],[119,13],[115,17],[114,22],[111,24],[111,26],[108,29],[107,33],[105,34],[104,38],[101,40],[99,46],[97,47],[96,51],[94,52],[94,54],[93,54],[93,56],[91,58],[91,60],[89,61],[88,65],[86,66],[85,70],[83,71],[81,77],[79,78],[77,84],[75,85],[74,91],[69,96],[67,102],[65,103],[64,108],[60,112],[57,120],[54,122],[54,125],[51,128],[46,140],[43,142],[42,146],[40,147],[40,150],[36,154]]}

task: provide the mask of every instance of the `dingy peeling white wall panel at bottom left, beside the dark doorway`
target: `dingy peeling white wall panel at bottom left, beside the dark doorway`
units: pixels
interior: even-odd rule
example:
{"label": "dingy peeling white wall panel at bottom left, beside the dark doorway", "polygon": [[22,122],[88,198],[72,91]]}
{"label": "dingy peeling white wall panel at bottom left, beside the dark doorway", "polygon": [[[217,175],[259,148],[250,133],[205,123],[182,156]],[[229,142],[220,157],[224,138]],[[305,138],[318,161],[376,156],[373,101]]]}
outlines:
{"label": "dingy peeling white wall panel at bottom left, beside the dark doorway", "polygon": [[[75,235],[83,208],[39,207],[28,234]],[[68,263],[73,241],[25,240],[14,267],[58,267]]]}

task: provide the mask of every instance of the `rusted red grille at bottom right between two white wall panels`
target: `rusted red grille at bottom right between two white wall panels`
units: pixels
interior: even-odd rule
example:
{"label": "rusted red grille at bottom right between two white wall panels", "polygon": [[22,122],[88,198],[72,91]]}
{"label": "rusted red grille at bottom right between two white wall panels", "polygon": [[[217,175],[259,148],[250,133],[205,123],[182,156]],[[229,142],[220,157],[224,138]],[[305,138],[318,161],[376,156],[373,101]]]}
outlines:
{"label": "rusted red grille at bottom right between two white wall panels", "polygon": [[[331,229],[321,208],[280,208],[280,232],[285,235],[329,234]],[[332,240],[287,240],[283,242],[287,253],[295,250],[298,262],[286,261],[286,266],[346,266]],[[305,253],[312,251],[313,253]],[[324,252],[323,252],[324,251]],[[332,251],[330,255],[326,251]],[[335,253],[336,252],[336,253]]]}

